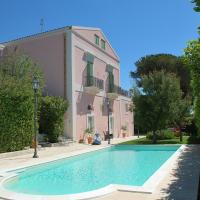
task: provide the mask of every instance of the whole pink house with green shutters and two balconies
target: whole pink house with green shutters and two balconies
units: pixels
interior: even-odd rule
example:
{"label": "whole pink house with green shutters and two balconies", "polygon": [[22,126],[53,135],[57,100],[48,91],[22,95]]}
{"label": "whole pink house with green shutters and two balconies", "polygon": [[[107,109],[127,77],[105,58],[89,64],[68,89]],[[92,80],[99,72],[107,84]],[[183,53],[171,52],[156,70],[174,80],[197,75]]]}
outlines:
{"label": "whole pink house with green shutters and two balconies", "polygon": [[[30,55],[44,73],[49,95],[69,101],[65,134],[73,140],[86,128],[103,135],[107,131],[107,99],[110,102],[110,132],[121,137],[134,134],[131,99],[120,88],[120,61],[99,28],[64,27],[3,43]],[[0,46],[0,52],[3,46]]]}

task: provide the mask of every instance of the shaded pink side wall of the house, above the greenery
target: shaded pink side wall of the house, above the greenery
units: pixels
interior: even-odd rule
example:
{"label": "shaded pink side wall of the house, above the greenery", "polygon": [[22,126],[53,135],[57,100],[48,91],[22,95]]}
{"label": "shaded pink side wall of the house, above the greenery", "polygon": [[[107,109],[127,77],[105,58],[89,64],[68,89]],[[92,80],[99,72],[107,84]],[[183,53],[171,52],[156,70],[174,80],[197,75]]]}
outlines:
{"label": "shaded pink side wall of the house, above the greenery", "polygon": [[28,54],[41,67],[49,95],[64,97],[64,35],[57,34],[16,42],[7,48],[17,47]]}

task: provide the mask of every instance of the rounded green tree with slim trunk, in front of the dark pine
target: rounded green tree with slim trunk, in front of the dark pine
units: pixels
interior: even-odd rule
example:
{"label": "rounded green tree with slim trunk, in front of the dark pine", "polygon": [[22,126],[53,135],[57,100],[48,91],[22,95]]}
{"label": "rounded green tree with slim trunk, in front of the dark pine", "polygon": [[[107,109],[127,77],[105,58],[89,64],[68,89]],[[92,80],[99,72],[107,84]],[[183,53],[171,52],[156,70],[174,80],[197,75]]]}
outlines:
{"label": "rounded green tree with slim trunk, in front of the dark pine", "polygon": [[134,90],[134,111],[137,124],[153,132],[153,143],[156,131],[175,121],[181,98],[179,79],[174,74],[154,71],[141,76],[141,88]]}

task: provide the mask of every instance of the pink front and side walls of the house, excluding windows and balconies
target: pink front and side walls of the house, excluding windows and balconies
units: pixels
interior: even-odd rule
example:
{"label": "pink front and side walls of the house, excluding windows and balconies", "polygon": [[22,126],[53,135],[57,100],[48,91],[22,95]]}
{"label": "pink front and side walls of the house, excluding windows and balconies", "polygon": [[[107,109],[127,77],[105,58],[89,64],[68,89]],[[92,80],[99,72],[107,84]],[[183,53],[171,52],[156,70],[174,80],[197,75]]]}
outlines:
{"label": "pink front and side walls of the house, excluding windows and balconies", "polygon": [[[32,37],[9,43],[7,48],[15,48],[30,55],[44,73],[49,95],[66,97],[69,108],[65,114],[65,133],[74,140],[83,137],[87,128],[88,105],[94,107],[95,130],[102,136],[107,131],[107,108],[105,103],[108,86],[107,66],[112,65],[115,84],[120,83],[119,59],[106,41],[106,50],[94,43],[94,34],[106,41],[98,30],[66,29],[65,31],[45,36]],[[86,76],[85,54],[94,56],[94,76],[104,81],[104,90],[96,95],[84,92]],[[131,103],[121,96],[112,101],[114,117],[114,137],[121,136],[121,126],[128,125],[128,134],[133,135],[133,114],[125,111],[125,104]]]}

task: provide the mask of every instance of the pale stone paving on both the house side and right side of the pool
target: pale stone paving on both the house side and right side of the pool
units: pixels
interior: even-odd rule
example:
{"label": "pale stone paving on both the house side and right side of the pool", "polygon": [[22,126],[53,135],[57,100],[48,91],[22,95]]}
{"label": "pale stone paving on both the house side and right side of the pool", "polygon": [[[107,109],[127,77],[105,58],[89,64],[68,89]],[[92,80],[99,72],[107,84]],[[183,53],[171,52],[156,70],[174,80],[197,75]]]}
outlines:
{"label": "pale stone paving on both the house side and right side of the pool", "polygon": [[[112,140],[112,144],[136,138],[136,136],[117,138]],[[98,150],[105,146],[107,146],[107,142],[103,142],[100,146],[74,143],[63,147],[46,147],[39,150],[40,157],[38,159],[32,158],[33,149],[19,151],[19,154],[15,156],[3,156],[3,154],[0,154],[0,173],[11,168],[31,166],[55,158]],[[189,145],[177,162],[170,167],[167,175],[152,194],[117,191],[104,197],[96,198],[96,200],[196,200],[199,173],[200,145]]]}

